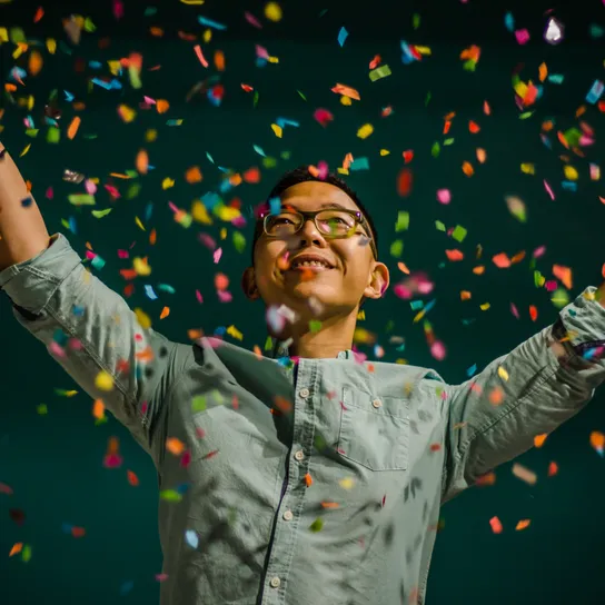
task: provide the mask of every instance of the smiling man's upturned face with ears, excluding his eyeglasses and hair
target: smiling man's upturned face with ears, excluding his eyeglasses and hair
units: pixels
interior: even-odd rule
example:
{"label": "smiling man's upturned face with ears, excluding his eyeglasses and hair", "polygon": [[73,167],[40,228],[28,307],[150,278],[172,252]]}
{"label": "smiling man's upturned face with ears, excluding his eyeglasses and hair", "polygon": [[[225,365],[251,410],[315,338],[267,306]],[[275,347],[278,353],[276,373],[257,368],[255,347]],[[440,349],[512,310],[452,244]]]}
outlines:
{"label": "smiling man's upturned face with ears, excluding his eyeglasses and hair", "polygon": [[[300,182],[281,195],[281,207],[315,211],[341,207],[358,211],[347,194],[326,182]],[[366,227],[366,229],[369,229]],[[379,298],[388,286],[388,270],[374,259],[370,234],[358,226],[356,235],[331,239],[307,220],[294,235],[262,234],[255,249],[255,282],[267,306],[286,305],[304,317],[319,319],[350,314],[361,298]],[[298,265],[313,255],[328,266]]]}

